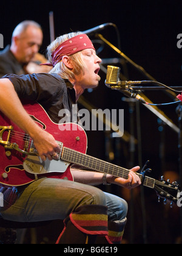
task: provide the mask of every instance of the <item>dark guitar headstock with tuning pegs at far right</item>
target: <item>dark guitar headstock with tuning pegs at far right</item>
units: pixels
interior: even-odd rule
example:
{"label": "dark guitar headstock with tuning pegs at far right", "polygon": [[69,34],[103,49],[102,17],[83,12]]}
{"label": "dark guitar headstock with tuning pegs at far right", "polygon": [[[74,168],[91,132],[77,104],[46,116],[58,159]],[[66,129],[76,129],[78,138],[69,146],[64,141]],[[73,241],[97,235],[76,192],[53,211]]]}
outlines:
{"label": "dark guitar headstock with tuning pegs at far right", "polygon": [[161,181],[155,181],[154,189],[158,194],[158,202],[163,198],[164,204],[167,204],[167,201],[170,201],[170,206],[172,207],[173,202],[177,204],[178,199],[180,199],[181,189],[178,183],[170,183],[169,180],[164,180],[163,176],[161,176]]}

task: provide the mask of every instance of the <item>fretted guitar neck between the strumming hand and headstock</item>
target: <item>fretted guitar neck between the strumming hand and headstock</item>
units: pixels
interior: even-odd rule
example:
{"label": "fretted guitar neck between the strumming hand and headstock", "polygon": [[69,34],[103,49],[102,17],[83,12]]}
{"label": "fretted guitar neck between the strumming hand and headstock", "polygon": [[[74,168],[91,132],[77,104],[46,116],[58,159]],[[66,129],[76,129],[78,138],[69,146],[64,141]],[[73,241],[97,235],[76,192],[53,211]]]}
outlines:
{"label": "fretted guitar neck between the strumming hand and headstock", "polygon": [[[74,163],[76,165],[92,169],[93,171],[111,174],[123,179],[128,179],[128,174],[130,172],[129,169],[104,162],[103,160],[99,160],[98,158],[91,157],[90,155],[86,155],[69,148],[63,148],[61,159],[69,163]],[[140,180],[143,179],[141,174],[136,174],[140,177]],[[145,177],[143,185],[149,188],[154,188],[155,179]]]}

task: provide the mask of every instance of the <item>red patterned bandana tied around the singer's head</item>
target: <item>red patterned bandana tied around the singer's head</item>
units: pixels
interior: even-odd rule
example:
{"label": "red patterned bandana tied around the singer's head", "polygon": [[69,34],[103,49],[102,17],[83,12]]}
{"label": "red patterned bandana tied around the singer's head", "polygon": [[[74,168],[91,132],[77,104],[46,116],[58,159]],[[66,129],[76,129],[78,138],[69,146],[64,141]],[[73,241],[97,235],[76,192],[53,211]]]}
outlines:
{"label": "red patterned bandana tied around the singer's head", "polygon": [[76,52],[83,51],[84,49],[94,49],[92,41],[86,34],[76,35],[69,40],[59,44],[59,46],[52,52],[52,64],[45,64],[49,66],[55,66],[62,60],[64,55],[72,55]]}

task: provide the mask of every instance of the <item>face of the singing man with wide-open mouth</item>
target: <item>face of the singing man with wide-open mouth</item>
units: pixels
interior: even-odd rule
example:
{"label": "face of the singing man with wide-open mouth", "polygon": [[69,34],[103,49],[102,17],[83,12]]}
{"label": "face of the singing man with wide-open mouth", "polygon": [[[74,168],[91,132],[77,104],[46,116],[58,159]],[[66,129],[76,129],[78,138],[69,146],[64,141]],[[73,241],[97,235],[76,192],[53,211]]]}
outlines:
{"label": "face of the singing man with wide-open mouth", "polygon": [[83,73],[76,77],[76,80],[84,89],[95,88],[98,86],[98,82],[101,79],[98,75],[101,59],[96,55],[93,49],[85,49],[81,54],[86,67]]}

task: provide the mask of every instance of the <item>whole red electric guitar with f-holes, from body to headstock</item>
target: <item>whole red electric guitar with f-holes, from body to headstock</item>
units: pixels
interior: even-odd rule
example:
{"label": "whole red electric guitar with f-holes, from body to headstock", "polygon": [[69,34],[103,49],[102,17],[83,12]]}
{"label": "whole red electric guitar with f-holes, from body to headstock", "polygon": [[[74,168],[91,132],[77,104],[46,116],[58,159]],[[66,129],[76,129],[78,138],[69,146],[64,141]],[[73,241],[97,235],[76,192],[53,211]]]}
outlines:
{"label": "whole red electric guitar with f-holes, from body to headstock", "polygon": [[[42,162],[32,138],[0,112],[0,183],[16,187],[30,183],[40,176],[73,180],[71,164],[127,179],[129,169],[86,155],[87,135],[81,126],[53,123],[39,104],[27,104],[24,108],[42,129],[51,133],[58,141],[61,153],[58,160]],[[178,201],[180,190],[177,183],[158,181],[143,173],[137,175],[144,186],[156,190],[160,197],[172,202]]]}

